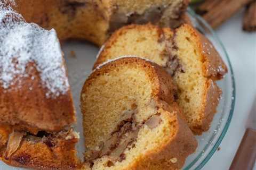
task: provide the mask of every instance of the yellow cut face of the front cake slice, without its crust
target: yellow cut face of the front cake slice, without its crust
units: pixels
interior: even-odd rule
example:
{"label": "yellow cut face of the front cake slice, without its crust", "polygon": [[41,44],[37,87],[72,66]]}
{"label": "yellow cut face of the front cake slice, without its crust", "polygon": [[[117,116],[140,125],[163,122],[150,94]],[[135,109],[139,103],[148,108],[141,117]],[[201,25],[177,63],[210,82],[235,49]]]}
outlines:
{"label": "yellow cut face of the front cake slice, without its crust", "polygon": [[143,67],[126,63],[84,86],[85,159],[92,169],[122,169],[175,134],[170,126],[177,124],[158,107]]}

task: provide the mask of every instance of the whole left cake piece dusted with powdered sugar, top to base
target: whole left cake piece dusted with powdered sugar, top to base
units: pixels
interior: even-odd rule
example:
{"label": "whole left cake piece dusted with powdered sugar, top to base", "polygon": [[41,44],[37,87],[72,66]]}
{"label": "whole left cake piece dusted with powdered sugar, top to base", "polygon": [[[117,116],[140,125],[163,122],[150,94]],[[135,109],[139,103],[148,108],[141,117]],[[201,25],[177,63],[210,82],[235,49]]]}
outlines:
{"label": "whole left cake piece dusted with powdered sugar, top to base", "polygon": [[76,122],[54,30],[0,1],[0,159],[34,169],[77,169]]}

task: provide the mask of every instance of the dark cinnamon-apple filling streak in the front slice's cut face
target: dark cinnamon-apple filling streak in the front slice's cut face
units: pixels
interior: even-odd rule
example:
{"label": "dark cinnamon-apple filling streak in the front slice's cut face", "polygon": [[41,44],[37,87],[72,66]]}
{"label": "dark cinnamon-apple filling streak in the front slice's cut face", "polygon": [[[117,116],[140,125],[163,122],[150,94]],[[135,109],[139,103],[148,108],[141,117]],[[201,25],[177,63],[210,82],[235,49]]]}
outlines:
{"label": "dark cinnamon-apple filling streak in the front slice's cut face", "polygon": [[130,150],[135,147],[134,142],[137,140],[140,128],[143,125],[147,125],[152,130],[162,122],[160,116],[155,114],[139,124],[135,121],[134,114],[135,112],[130,114],[131,116],[128,116],[128,119],[121,121],[117,125],[117,130],[111,133],[111,137],[105,143],[102,143],[99,151],[90,151],[89,158],[86,158],[89,163],[93,163],[94,159],[103,156],[108,156],[111,163],[122,162],[126,158],[125,149],[128,148]]}

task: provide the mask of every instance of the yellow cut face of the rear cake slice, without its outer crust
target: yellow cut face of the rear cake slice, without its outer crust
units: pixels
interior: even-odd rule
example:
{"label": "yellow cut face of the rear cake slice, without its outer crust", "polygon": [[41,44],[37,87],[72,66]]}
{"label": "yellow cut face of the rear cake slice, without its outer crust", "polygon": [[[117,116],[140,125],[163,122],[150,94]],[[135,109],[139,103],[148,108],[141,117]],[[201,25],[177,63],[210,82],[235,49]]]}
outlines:
{"label": "yellow cut face of the rear cake slice, without its outer crust", "polygon": [[186,27],[177,31],[153,25],[131,25],[107,42],[94,67],[123,55],[138,55],[162,65],[178,86],[177,102],[190,128],[201,124],[201,111],[207,78],[201,49]]}

